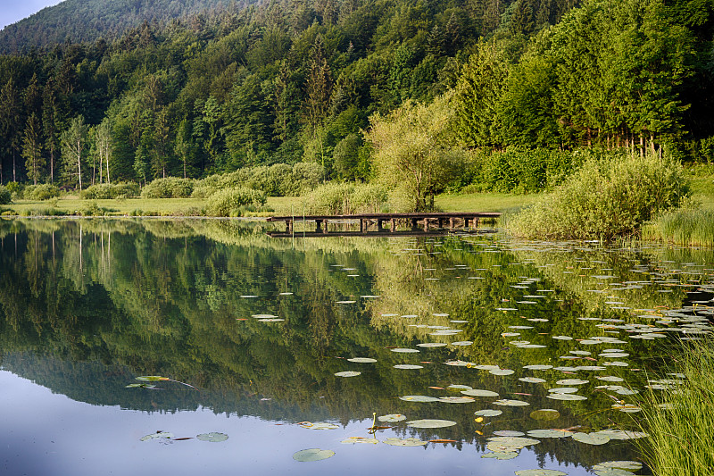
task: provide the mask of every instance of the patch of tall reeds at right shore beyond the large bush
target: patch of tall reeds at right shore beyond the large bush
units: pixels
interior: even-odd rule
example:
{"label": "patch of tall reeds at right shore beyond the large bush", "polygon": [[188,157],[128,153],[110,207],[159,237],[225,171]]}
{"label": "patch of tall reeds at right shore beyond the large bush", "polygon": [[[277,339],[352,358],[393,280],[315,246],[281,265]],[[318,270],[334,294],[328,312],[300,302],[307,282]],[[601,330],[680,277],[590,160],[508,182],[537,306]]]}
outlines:
{"label": "patch of tall reeds at right shore beyond the large bush", "polygon": [[714,210],[680,208],[662,213],[643,227],[642,237],[673,245],[714,247]]}

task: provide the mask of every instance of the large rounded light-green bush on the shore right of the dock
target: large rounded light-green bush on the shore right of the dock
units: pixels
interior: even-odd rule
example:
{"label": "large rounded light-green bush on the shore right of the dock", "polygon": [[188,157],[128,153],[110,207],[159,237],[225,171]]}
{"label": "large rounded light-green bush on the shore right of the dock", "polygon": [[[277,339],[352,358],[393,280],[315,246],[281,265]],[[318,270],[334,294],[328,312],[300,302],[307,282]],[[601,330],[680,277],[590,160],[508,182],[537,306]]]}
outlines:
{"label": "large rounded light-green bush on the shore right of the dock", "polygon": [[624,238],[688,195],[679,163],[612,154],[589,159],[551,196],[513,217],[508,229],[523,238]]}

